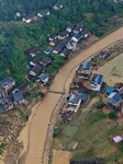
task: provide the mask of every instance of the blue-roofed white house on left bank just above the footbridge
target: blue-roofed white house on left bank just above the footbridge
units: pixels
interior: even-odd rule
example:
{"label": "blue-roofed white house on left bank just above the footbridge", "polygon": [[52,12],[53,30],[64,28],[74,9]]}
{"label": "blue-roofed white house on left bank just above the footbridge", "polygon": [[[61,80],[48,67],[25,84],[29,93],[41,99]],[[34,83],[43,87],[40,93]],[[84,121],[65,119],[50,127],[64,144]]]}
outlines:
{"label": "blue-roofed white house on left bank just above the footbridge", "polygon": [[49,81],[49,74],[47,73],[42,73],[37,77],[36,82],[44,85]]}

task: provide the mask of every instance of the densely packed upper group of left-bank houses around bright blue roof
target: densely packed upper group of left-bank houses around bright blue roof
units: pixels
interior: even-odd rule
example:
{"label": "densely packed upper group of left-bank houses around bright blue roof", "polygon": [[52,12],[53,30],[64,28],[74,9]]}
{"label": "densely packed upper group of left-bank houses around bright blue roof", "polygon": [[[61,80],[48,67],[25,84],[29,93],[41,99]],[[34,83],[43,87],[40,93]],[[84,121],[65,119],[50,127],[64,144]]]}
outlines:
{"label": "densely packed upper group of left-bank houses around bright blue roof", "polygon": [[78,43],[89,35],[81,22],[68,24],[64,32],[49,37],[49,47],[44,52],[47,55],[52,52],[69,59],[70,52],[77,49]]}

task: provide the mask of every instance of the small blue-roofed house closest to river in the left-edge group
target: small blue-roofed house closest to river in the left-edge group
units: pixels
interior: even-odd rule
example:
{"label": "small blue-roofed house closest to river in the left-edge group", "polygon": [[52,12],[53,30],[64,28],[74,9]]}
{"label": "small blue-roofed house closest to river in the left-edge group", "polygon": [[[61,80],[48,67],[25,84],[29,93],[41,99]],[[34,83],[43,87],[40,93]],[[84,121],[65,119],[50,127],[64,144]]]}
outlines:
{"label": "small blue-roofed house closest to river in the left-edge group", "polygon": [[21,104],[24,104],[24,102],[25,102],[23,94],[19,89],[15,89],[12,92],[12,99],[13,99],[14,105],[21,105]]}

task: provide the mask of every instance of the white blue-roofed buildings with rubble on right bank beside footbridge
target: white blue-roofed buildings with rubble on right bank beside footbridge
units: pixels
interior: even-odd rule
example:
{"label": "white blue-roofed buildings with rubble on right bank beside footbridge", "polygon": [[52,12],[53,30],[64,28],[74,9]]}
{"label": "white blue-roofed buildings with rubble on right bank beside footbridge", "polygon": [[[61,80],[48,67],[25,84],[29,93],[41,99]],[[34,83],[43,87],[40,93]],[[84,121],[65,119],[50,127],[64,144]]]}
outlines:
{"label": "white blue-roofed buildings with rubble on right bank beside footbridge", "polygon": [[80,106],[83,106],[89,98],[89,90],[81,83],[72,82],[70,85],[69,94],[66,95],[65,106],[59,113],[62,122],[68,122],[71,120]]}

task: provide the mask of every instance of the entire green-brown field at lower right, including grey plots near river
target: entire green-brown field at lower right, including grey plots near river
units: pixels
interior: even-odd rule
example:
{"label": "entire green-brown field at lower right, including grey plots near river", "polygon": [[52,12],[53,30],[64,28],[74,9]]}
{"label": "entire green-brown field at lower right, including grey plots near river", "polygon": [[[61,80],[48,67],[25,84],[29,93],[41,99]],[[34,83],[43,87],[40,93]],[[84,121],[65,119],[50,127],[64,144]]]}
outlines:
{"label": "entire green-brown field at lower right, including grey plots near river", "polygon": [[[99,102],[97,97],[93,99]],[[86,109],[79,110],[77,117],[65,125],[63,136],[56,139],[54,148],[69,151],[74,157],[103,157],[105,164],[116,164],[123,153],[111,142],[111,138],[123,133],[123,124],[110,120],[108,115],[91,109],[90,105]]]}

